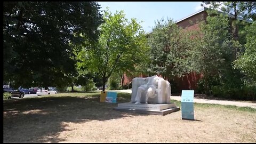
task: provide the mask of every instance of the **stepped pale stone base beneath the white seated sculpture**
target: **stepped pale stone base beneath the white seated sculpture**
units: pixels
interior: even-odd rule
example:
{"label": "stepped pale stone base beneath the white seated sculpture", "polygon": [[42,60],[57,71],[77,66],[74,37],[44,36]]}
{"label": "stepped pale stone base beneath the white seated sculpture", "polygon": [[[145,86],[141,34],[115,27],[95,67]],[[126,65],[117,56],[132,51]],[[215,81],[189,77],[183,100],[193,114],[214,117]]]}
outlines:
{"label": "stepped pale stone base beneath the white seated sculpture", "polygon": [[114,109],[118,111],[133,112],[133,113],[140,113],[140,114],[167,115],[175,111],[179,111],[180,107],[177,107],[175,103],[134,104],[131,102],[125,102],[125,103],[118,103],[118,106]]}

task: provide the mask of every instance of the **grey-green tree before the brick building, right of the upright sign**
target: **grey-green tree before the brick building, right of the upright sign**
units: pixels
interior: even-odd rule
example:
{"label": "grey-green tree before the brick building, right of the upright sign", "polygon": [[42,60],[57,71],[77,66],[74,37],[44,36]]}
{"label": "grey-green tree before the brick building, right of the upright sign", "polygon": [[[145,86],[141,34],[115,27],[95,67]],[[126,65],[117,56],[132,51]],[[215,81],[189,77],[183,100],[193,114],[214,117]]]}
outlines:
{"label": "grey-green tree before the brick building, right of the upright sign", "polygon": [[203,88],[210,94],[214,78],[218,79],[231,66],[231,50],[228,18],[217,15],[207,17],[206,21],[207,24],[204,21],[199,24],[199,31],[193,31],[190,61],[193,70],[204,75]]}

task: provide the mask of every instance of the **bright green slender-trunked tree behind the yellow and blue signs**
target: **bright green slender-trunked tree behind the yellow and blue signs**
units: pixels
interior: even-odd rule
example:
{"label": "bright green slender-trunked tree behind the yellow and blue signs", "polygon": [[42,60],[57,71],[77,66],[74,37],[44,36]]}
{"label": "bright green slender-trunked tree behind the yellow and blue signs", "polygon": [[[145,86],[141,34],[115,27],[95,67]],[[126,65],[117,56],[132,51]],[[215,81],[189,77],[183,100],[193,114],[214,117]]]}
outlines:
{"label": "bright green slender-trunked tree behind the yellow and blue signs", "polygon": [[[105,91],[105,84],[111,74],[125,69],[133,70],[143,59],[147,47],[145,32],[136,19],[128,21],[123,11],[116,11],[112,15],[106,10],[103,20],[105,23],[99,27],[98,43],[83,47],[76,55],[79,60],[78,67],[89,67],[100,74],[102,91]],[[87,41],[86,37],[84,41]]]}

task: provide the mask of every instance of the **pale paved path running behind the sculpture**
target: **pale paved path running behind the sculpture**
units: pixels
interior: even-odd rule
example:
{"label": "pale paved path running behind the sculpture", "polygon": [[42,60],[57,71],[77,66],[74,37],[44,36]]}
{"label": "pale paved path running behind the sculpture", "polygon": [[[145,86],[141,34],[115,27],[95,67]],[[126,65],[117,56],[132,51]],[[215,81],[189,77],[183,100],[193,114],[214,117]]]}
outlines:
{"label": "pale paved path running behind the sculpture", "polygon": [[[132,93],[132,90],[111,90],[116,92],[125,92]],[[180,101],[180,96],[171,96],[171,99]],[[238,102],[238,101],[226,101],[226,100],[207,100],[207,99],[196,99],[194,98],[194,102],[196,103],[213,103],[219,105],[233,105],[238,107],[251,107],[256,109],[256,103],[249,102]]]}

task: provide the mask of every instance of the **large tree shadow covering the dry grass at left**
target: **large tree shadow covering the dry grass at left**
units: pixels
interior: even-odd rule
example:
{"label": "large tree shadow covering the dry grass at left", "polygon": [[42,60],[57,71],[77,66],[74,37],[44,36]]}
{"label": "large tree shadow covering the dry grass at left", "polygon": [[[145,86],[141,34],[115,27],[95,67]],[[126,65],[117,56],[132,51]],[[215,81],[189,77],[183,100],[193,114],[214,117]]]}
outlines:
{"label": "large tree shadow covering the dry grass at left", "polygon": [[[58,136],[62,131],[71,131],[68,123],[142,115],[113,110],[117,103],[99,102],[99,92],[78,97],[76,93],[61,95],[5,100],[4,142],[62,142],[66,139]],[[118,93],[118,102],[130,100],[131,94]]]}

